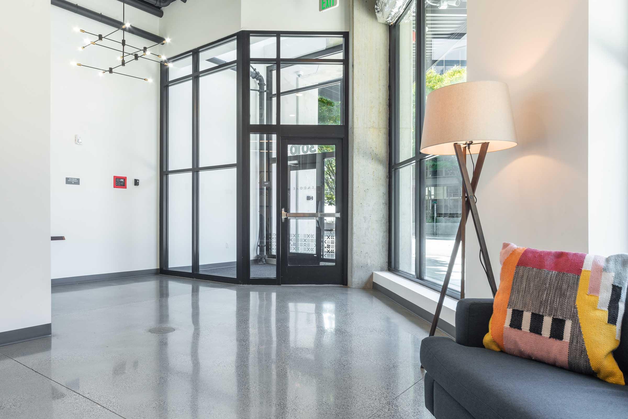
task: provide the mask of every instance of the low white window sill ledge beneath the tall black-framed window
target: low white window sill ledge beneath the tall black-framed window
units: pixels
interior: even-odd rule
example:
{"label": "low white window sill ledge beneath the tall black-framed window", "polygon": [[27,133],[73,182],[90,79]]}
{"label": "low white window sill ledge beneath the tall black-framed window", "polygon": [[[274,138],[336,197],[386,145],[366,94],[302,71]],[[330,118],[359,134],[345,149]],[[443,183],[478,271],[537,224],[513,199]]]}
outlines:
{"label": "low white window sill ledge beneath the tall black-framed window", "polygon": [[[402,276],[392,272],[382,271],[373,273],[373,282],[386,290],[395,293],[401,298],[417,305],[426,312],[434,314],[440,293],[431,288],[423,286],[414,281],[406,280]],[[456,325],[456,305],[458,300],[445,296],[443,308],[440,312],[440,319],[455,327]]]}

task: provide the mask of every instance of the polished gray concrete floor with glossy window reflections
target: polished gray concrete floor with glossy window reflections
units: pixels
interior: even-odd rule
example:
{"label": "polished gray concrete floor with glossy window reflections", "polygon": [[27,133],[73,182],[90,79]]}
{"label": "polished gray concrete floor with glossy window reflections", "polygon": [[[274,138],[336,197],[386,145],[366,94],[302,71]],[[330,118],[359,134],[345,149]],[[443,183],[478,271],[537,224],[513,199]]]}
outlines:
{"label": "polished gray concrete floor with glossy window reflections", "polygon": [[428,324],[374,290],[144,276],[53,287],[0,418],[431,418]]}

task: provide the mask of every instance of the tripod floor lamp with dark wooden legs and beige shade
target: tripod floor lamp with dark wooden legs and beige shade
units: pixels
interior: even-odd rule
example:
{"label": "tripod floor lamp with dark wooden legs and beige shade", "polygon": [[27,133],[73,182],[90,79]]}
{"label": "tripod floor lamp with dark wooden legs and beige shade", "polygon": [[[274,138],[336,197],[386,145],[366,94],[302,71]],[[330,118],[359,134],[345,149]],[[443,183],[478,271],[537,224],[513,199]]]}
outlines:
{"label": "tripod floor lamp with dark wooden legs and beige shade", "polygon": [[[480,263],[483,263],[490,290],[495,296],[497,285],[490,266],[489,252],[477,211],[475,188],[480,180],[486,153],[506,150],[517,145],[512,118],[508,85],[502,82],[467,82],[436,89],[428,95],[421,136],[421,153],[430,155],[455,155],[462,175],[462,214],[447,274],[438,298],[430,336],[438,325],[445,294],[452,278],[458,249],[462,244],[461,297],[464,296],[465,226],[469,212],[475,225],[480,244]],[[473,177],[467,171],[467,153],[477,154]],[[471,156],[471,158],[473,158]]]}

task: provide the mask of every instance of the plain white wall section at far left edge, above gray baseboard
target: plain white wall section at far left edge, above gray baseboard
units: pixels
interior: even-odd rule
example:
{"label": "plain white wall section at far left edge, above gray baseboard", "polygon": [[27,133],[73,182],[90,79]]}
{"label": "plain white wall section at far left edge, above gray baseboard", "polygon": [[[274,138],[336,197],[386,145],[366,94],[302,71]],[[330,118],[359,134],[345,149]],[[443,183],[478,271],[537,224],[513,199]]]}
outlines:
{"label": "plain white wall section at far left edge, above gray baseboard", "polygon": [[0,26],[0,332],[48,324],[51,318],[50,50],[45,45],[50,3],[4,2],[3,13],[11,18]]}

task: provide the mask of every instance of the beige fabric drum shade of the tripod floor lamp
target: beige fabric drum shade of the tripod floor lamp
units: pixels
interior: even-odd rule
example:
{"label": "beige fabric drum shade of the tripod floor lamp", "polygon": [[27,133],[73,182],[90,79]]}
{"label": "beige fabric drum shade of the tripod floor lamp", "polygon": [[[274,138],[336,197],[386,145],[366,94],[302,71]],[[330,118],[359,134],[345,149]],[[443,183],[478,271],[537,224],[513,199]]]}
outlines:
{"label": "beige fabric drum shade of the tripod floor lamp", "polygon": [[506,150],[517,145],[508,85],[502,82],[466,82],[428,94],[421,136],[421,153],[455,154],[453,144],[473,141],[470,153]]}

